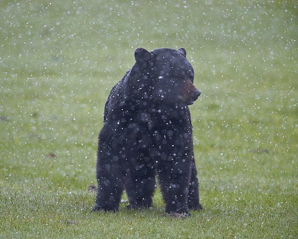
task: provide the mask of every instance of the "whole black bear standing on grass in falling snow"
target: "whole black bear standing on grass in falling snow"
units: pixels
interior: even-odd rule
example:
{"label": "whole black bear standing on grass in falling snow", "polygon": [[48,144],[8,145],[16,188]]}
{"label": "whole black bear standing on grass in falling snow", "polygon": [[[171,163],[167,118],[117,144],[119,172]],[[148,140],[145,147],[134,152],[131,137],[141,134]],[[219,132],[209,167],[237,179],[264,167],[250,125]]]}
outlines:
{"label": "whole black bear standing on grass in falling snow", "polygon": [[112,88],[98,137],[94,211],[152,206],[156,178],[168,214],[202,209],[188,105],[201,92],[186,50],[136,49],[136,63]]}

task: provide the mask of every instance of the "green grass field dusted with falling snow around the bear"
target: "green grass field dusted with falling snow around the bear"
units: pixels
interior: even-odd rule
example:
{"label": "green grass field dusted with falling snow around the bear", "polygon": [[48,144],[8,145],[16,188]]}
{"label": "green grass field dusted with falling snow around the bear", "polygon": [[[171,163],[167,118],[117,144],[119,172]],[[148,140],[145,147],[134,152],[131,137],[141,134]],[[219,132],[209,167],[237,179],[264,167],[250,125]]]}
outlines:
{"label": "green grass field dusted with falling snow around the bear", "polygon": [[[0,238],[298,238],[296,1],[1,1]],[[91,212],[134,50],[185,47],[201,212]],[[124,196],[125,199],[125,196]],[[66,220],[66,221],[63,221]]]}

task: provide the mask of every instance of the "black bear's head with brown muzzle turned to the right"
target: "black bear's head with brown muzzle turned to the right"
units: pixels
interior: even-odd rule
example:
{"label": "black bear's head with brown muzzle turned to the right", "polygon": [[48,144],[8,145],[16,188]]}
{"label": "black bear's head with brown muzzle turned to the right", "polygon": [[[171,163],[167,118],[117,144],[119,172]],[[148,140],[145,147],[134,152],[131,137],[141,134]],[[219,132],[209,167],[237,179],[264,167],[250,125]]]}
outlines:
{"label": "black bear's head with brown muzzle turned to the right", "polygon": [[136,49],[136,63],[132,70],[138,72],[149,100],[158,104],[193,104],[201,92],[193,85],[194,71],[186,59],[186,50],[159,48],[147,51]]}

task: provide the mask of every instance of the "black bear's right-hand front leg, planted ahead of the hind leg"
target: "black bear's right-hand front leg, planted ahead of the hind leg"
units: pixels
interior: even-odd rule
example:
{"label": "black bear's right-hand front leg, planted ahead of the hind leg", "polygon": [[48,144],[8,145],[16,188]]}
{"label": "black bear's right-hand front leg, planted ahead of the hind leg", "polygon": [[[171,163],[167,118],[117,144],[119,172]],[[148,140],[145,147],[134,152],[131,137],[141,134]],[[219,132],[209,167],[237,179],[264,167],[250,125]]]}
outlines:
{"label": "black bear's right-hand front leg, planted ahead of the hind leg", "polygon": [[188,208],[187,197],[190,183],[190,165],[165,161],[159,166],[159,182],[162,188],[166,213],[183,213],[191,216]]}

